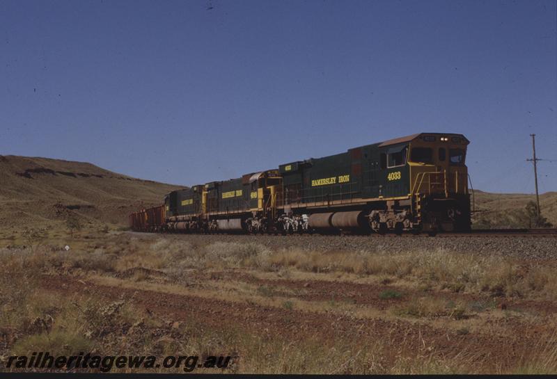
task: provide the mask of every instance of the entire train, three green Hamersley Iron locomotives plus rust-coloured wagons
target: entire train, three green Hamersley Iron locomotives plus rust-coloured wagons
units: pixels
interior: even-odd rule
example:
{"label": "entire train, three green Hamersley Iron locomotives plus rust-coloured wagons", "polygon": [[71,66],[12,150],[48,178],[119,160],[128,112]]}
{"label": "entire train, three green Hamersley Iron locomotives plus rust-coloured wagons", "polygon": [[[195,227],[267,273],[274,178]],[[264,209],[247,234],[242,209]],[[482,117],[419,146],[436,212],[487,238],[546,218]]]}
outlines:
{"label": "entire train, three green Hamersley Iron locomotives plus rust-coloured wagons", "polygon": [[139,232],[355,233],[470,230],[469,144],[420,133],[172,191],[130,215]]}

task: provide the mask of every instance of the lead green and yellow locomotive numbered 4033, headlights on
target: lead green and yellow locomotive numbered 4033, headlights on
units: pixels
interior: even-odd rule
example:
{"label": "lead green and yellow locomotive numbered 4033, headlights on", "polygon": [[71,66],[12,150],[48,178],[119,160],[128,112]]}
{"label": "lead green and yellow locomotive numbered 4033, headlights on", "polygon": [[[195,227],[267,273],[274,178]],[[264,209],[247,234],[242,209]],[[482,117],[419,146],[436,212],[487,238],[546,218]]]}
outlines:
{"label": "lead green and yellow locomotive numbered 4033, headlights on", "polygon": [[468,144],[422,133],[281,165],[279,212],[308,215],[315,230],[469,230]]}

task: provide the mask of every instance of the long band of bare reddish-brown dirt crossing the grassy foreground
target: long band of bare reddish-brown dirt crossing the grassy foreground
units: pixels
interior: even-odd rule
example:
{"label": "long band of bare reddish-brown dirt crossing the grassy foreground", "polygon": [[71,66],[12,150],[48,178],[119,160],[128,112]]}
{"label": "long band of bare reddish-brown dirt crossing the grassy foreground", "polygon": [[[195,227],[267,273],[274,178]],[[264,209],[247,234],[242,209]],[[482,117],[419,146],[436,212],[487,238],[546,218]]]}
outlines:
{"label": "long band of bare reddish-brown dirt crossing the grassy foreground", "polygon": [[[316,282],[312,282],[316,285]],[[319,282],[322,289],[329,284]],[[338,283],[331,285],[336,286]],[[359,287],[353,284],[352,291]],[[430,325],[413,321],[388,320],[383,318],[368,319],[343,316],[338,313],[304,312],[297,309],[265,307],[256,304],[234,303],[212,298],[185,296],[178,294],[146,291],[142,289],[125,289],[106,285],[83,282],[68,276],[45,276],[42,287],[49,291],[63,293],[65,296],[83,297],[84,293],[105,300],[131,298],[134,304],[170,321],[195,321],[205,328],[216,330],[244,330],[252,334],[265,332],[269,337],[303,341],[308,337],[318,337],[323,346],[329,346],[335,339],[379,339],[393,347],[387,360],[405,352],[396,346],[405,346],[407,353],[416,353],[425,346],[434,347],[435,351],[445,357],[457,355],[462,350],[477,353],[478,362],[490,362],[492,366],[485,371],[495,371],[496,367],[509,366],[533,349],[539,341],[539,334],[544,328],[529,325],[513,325],[513,334],[494,335],[471,333],[458,335],[450,330],[432,328]],[[311,286],[308,288],[312,288]],[[135,295],[134,295],[135,294]],[[494,321],[494,323],[509,321]],[[518,328],[519,327],[519,328]],[[504,348],[502,348],[504,346]],[[483,355],[484,357],[481,357]],[[485,360],[485,356],[489,360]]]}

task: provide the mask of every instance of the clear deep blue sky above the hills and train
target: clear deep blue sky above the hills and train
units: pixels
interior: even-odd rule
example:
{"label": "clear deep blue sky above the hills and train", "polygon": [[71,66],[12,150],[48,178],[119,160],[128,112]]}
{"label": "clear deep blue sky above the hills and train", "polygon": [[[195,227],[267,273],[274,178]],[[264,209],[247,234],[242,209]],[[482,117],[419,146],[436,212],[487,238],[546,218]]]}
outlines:
{"label": "clear deep blue sky above the hills and train", "polygon": [[[420,131],[557,160],[556,1],[0,1],[0,154],[202,184]],[[557,191],[541,161],[540,191]]]}

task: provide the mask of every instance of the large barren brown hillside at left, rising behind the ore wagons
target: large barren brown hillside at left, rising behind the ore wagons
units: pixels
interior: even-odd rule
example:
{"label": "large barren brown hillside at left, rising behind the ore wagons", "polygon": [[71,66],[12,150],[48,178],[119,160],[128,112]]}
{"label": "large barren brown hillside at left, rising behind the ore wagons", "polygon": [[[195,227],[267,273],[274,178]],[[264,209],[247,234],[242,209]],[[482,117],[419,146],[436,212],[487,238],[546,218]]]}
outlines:
{"label": "large barren brown hillside at left, rising behind the ore wagons", "polygon": [[0,225],[6,231],[63,225],[73,216],[84,226],[123,226],[131,211],[160,204],[175,188],[91,163],[0,156]]}

